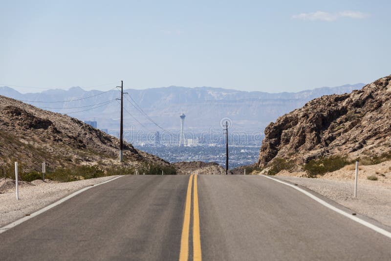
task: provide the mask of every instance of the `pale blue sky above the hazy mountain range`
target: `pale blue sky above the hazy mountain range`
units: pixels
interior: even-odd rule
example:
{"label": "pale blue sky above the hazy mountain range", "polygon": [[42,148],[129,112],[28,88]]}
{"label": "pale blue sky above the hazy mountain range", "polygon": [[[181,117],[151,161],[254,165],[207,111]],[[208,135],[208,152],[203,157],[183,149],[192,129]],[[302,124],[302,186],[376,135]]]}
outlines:
{"label": "pale blue sky above the hazy mountain range", "polygon": [[370,83],[391,74],[390,12],[390,0],[0,0],[0,86]]}

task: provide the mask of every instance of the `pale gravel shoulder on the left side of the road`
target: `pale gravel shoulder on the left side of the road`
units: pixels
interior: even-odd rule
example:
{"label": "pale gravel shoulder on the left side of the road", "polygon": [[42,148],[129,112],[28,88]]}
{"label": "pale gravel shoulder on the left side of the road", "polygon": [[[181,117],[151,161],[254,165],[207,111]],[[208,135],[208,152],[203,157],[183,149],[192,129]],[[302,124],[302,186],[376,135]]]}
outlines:
{"label": "pale gravel shoulder on the left side of the road", "polygon": [[[63,198],[77,190],[95,185],[115,176],[91,178],[86,180],[54,183],[51,181],[34,180],[21,182],[19,200],[15,196],[15,181],[0,180],[0,227],[31,214],[54,201]],[[10,186],[11,185],[11,186]],[[1,189],[1,187],[3,187]]]}

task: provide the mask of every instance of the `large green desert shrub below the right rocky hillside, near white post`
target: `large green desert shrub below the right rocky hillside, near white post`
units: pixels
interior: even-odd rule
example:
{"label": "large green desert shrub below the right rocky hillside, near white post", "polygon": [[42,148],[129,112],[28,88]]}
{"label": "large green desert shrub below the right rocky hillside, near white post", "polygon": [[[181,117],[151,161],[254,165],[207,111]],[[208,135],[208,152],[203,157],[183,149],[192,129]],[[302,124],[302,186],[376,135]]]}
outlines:
{"label": "large green desert shrub below the right rocky hillside, near white post", "polygon": [[308,177],[315,177],[317,174],[323,175],[327,172],[339,170],[350,163],[346,157],[331,156],[310,160],[303,168]]}

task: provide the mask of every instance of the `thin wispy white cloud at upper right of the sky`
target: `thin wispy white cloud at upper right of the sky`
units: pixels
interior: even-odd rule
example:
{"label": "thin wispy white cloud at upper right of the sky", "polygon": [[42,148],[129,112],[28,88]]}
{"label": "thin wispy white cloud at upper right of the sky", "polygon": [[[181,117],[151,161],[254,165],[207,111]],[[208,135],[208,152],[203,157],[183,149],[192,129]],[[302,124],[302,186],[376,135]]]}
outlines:
{"label": "thin wispy white cloud at upper right of the sky", "polygon": [[338,13],[327,13],[322,11],[317,11],[314,13],[302,13],[299,15],[293,15],[292,19],[304,20],[304,21],[326,21],[332,22],[340,18],[352,18],[352,19],[363,19],[368,17],[368,14],[355,11],[343,11]]}

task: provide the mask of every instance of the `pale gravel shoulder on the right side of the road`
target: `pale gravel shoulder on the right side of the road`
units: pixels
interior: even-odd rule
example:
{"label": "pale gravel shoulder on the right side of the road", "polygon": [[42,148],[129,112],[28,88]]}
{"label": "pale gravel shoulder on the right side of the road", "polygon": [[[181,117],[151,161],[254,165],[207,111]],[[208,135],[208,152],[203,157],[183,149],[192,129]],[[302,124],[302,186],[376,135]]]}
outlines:
{"label": "pale gravel shoulder on the right side of the road", "polygon": [[[344,207],[391,227],[390,184],[359,179],[357,197],[354,197],[354,180],[306,178],[285,175],[277,175],[277,177],[304,186],[334,200]],[[345,179],[345,177],[343,178]]]}

